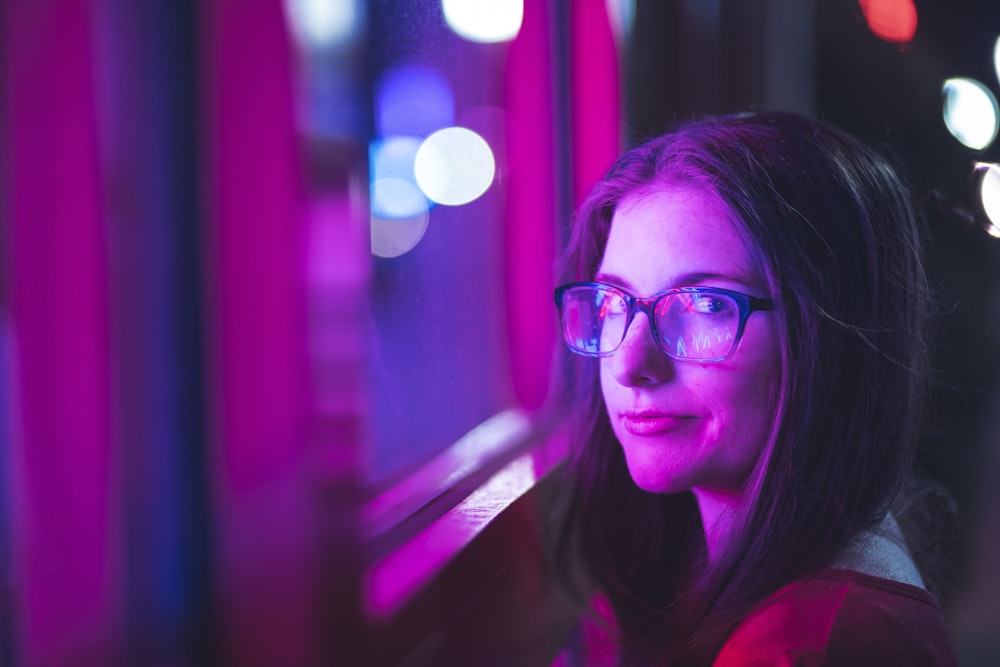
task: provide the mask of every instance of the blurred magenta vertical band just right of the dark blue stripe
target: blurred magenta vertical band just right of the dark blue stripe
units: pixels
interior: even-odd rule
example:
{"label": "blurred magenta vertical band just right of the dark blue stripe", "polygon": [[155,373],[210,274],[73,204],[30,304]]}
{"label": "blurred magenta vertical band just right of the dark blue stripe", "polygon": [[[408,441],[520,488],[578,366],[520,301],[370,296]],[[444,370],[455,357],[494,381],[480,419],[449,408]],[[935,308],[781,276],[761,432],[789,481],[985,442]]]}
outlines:
{"label": "blurred magenta vertical band just right of the dark blue stripe", "polygon": [[[280,0],[200,9],[220,650],[236,665],[351,664],[363,641],[351,464],[361,416],[335,415],[331,430],[313,400],[323,374],[310,367],[293,45]],[[345,200],[348,186],[332,184]],[[331,222],[350,259],[350,209]],[[354,312],[334,315],[353,331]],[[360,405],[362,389],[360,373],[344,377],[333,401]]]}

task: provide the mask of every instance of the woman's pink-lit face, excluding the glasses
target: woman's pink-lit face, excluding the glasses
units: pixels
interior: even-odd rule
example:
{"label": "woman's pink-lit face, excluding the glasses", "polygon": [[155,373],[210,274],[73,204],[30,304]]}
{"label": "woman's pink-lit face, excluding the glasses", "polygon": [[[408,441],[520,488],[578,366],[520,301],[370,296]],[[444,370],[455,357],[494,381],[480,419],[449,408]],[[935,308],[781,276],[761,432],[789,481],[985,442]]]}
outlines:
{"label": "woman's pink-lit face, excluding the glasses", "polygon": [[[626,200],[611,222],[595,280],[634,296],[710,286],[766,298],[729,211],[694,187]],[[736,493],[753,470],[775,412],[778,315],[758,311],[738,349],[716,363],[676,361],[657,347],[637,313],[601,359],[608,417],[635,483],[654,493]]]}

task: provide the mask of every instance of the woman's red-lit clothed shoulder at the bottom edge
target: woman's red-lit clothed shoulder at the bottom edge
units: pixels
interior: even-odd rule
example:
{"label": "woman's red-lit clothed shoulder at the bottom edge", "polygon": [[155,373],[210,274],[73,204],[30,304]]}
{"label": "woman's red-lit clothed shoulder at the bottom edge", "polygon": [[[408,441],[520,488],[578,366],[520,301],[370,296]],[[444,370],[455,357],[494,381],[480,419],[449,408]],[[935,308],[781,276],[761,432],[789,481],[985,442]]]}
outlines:
{"label": "woman's red-lit clothed shoulder at the bottom edge", "polygon": [[933,595],[859,572],[824,570],[790,584],[751,613],[714,664],[956,663]]}

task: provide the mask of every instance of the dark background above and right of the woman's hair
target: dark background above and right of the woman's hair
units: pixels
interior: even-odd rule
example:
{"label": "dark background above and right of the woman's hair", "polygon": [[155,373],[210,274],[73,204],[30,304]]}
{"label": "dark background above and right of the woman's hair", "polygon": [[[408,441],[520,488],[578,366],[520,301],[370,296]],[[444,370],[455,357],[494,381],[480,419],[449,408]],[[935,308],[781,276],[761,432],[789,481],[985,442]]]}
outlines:
{"label": "dark background above and right of the woman's hair", "polygon": [[976,152],[951,136],[942,84],[971,77],[1000,92],[993,63],[1000,3],[915,5],[916,34],[899,45],[875,36],[853,0],[638,0],[626,47],[626,115],[634,144],[691,115],[788,108],[840,125],[902,166],[926,220],[937,310],[918,465],[958,508],[947,549],[959,600],[960,591],[982,585],[989,559],[982,545],[991,542],[984,535],[996,532],[1000,240],[984,231],[973,166],[996,161],[1000,149]]}

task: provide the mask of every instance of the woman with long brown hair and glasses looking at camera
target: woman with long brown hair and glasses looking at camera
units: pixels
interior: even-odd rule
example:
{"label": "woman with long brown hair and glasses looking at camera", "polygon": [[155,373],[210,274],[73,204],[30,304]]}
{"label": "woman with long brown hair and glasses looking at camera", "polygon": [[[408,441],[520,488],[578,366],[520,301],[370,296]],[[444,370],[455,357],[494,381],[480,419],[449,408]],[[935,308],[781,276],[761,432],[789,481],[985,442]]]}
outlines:
{"label": "woman with long brown hair and glasses looking at camera", "polygon": [[787,113],[689,123],[593,189],[564,279],[563,544],[623,663],[954,663],[891,510],[927,294],[883,159]]}

